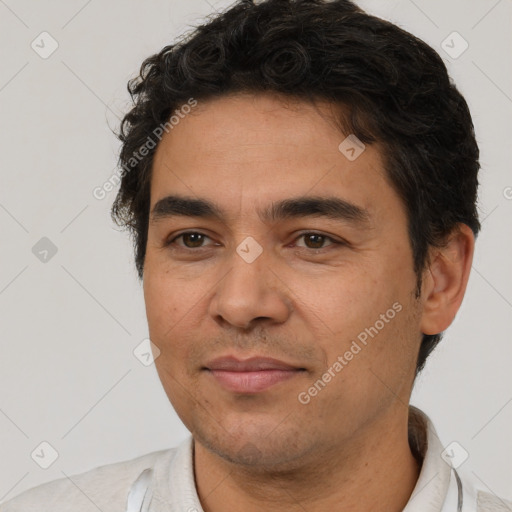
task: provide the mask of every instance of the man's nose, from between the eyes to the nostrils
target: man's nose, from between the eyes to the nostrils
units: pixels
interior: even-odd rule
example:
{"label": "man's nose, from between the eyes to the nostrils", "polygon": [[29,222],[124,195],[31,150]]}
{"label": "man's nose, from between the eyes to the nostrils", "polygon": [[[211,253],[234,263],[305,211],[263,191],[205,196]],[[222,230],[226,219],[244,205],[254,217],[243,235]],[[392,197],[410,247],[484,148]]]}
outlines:
{"label": "man's nose, from between the eyes to the nostrils", "polygon": [[283,323],[291,313],[288,288],[265,252],[248,263],[238,253],[224,268],[209,306],[210,315],[220,323],[250,329],[262,322]]}

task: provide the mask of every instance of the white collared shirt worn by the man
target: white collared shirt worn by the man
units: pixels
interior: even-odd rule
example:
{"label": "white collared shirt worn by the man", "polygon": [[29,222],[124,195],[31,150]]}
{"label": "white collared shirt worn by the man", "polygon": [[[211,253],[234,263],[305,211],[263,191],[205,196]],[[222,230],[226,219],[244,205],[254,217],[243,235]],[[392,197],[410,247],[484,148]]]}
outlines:
{"label": "white collared shirt worn by the man", "polygon": [[[511,501],[477,490],[460,468],[456,471],[463,500],[458,509],[454,470],[441,456],[444,448],[432,422],[414,406],[409,407],[409,443],[423,462],[403,512],[512,512]],[[148,512],[203,512],[195,487],[191,436],[177,448],[40,485],[0,505],[0,512],[125,511],[130,489],[148,468],[152,469]]]}

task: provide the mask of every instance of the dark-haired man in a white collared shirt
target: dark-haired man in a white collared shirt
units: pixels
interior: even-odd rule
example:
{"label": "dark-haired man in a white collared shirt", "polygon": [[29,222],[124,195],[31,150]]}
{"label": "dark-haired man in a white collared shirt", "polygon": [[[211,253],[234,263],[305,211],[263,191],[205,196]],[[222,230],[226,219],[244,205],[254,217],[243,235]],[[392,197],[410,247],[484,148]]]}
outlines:
{"label": "dark-haired man in a white collared shirt", "polygon": [[348,0],[241,1],[130,91],[112,213],[192,435],[1,510],[512,510],[409,405],[480,228],[440,57]]}

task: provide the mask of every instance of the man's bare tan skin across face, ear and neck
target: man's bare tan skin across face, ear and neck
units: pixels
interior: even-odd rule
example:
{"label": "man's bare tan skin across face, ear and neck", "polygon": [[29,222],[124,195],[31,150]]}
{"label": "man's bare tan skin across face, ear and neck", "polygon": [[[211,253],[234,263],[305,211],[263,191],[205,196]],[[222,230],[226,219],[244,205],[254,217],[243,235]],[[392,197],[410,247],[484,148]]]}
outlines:
{"label": "man's bare tan skin across face, ear and neck", "polygon": [[[225,96],[200,102],[156,151],[151,209],[173,194],[225,212],[152,219],[144,268],[157,371],[193,434],[207,512],[315,512],[341,503],[398,512],[419,475],[407,437],[416,358],[422,333],[444,330],[460,306],[474,239],[461,225],[431,250],[416,298],[406,212],[380,148],[367,145],[349,161],[333,113],[326,103],[276,95]],[[350,201],[368,222],[264,222],[257,214],[302,195]],[[206,237],[175,239],[184,231]],[[311,231],[331,238],[301,236]],[[248,236],[263,250],[252,263],[236,251]],[[401,311],[301,403],[299,393],[396,303]],[[304,371],[257,394],[233,393],[203,369],[230,354]]]}

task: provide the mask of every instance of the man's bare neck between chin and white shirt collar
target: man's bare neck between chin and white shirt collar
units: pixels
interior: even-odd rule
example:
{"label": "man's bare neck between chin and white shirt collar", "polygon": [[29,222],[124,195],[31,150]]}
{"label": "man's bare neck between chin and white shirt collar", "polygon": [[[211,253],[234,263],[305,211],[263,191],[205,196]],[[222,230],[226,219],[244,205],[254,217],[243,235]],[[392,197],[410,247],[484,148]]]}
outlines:
{"label": "man's bare neck between chin and white shirt collar", "polygon": [[[394,415],[397,418],[397,415]],[[378,422],[336,450],[283,471],[232,464],[195,441],[195,476],[205,512],[350,510],[399,512],[418,480],[407,415]]]}

